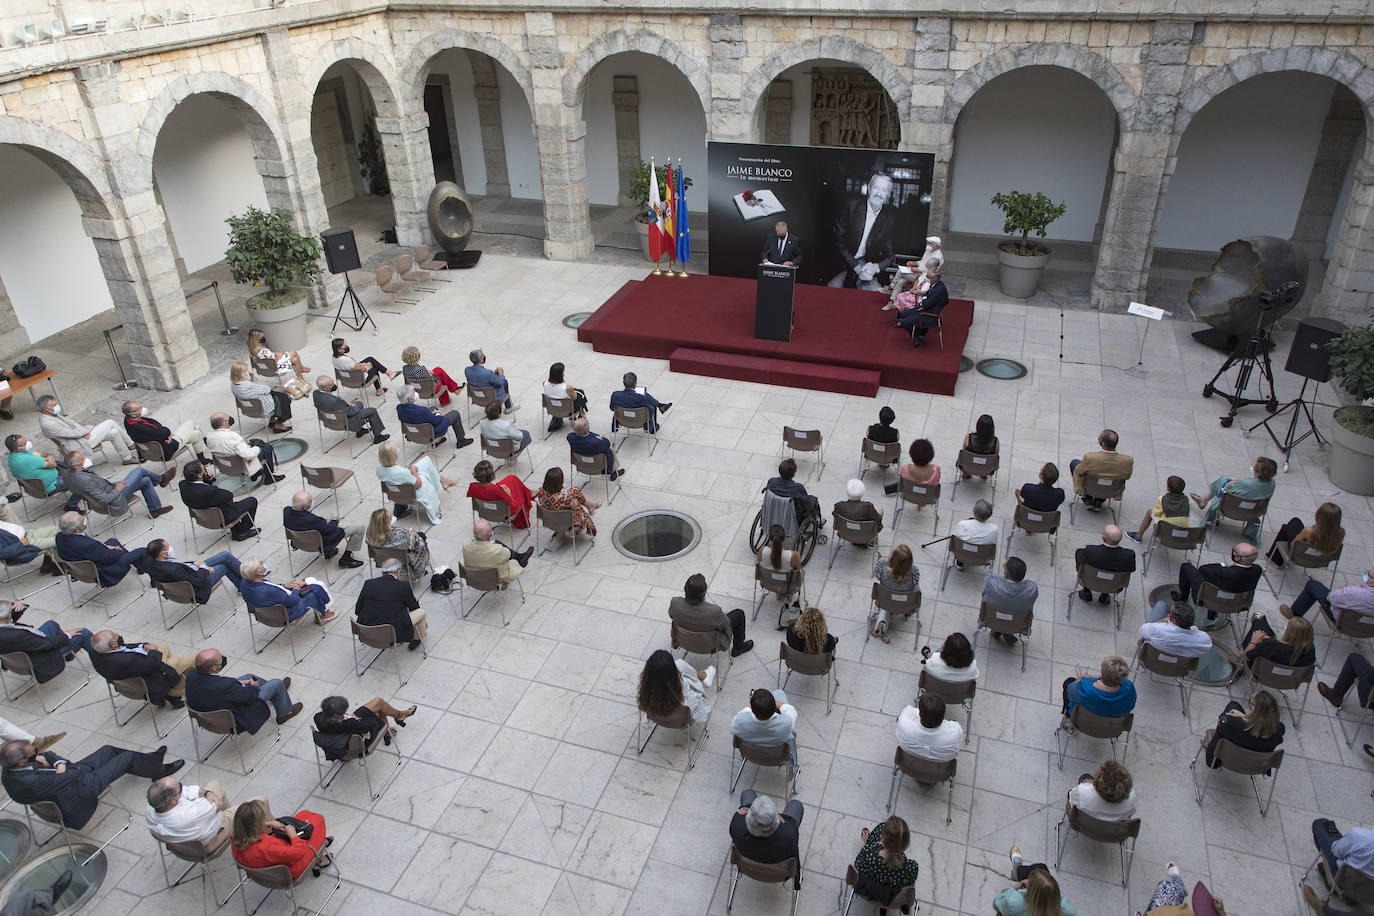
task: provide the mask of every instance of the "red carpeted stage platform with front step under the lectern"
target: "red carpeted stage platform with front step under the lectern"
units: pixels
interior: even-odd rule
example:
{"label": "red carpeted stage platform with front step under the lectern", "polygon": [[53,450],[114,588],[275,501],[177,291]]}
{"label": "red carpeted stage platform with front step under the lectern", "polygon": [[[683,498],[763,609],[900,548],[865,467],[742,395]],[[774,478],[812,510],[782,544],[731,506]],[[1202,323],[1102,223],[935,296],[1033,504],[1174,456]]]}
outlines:
{"label": "red carpeted stage platform with front step under the lectern", "polygon": [[973,302],[951,299],[944,352],[893,327],[881,293],[797,284],[791,341],[754,339],[754,280],[691,275],[631,280],[577,330],[600,353],[669,360],[675,372],[819,391],[878,394],[878,386],[954,394]]}

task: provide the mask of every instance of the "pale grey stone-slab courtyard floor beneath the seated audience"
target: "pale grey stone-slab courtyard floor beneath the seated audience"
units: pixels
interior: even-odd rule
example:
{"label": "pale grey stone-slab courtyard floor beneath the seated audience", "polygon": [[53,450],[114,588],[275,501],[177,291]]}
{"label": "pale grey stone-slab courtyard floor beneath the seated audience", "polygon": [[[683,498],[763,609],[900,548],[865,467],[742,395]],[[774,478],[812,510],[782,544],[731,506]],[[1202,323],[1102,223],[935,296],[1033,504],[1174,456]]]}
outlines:
{"label": "pale grey stone-slab courtyard floor beneath the seated audience", "polygon": [[[954,264],[947,268],[949,273],[956,271]],[[235,801],[265,795],[278,813],[306,808],[324,816],[328,832],[337,838],[335,861],[344,876],[327,912],[725,912],[727,825],[735,808],[727,791],[732,775],[730,718],[745,706],[752,688],[775,684],[776,603],[764,602],[763,612],[750,622],[756,648],[730,667],[694,769],[684,772],[687,747],[679,733],[660,729],[647,748],[636,753],[635,688],[644,658],[669,645],[668,602],[680,593],[690,574],[703,573],[710,599],[727,608],[747,610],[754,600],[749,526],[760,505],[758,490],[775,472],[785,424],[822,430],[827,459],[823,474],[816,474],[813,461],[804,459],[801,464],[807,486],[827,508],[844,497],[846,479],[856,474],[859,439],[881,405],[896,411],[904,446],[916,437],[934,442],[947,481],[938,520],[930,512],[905,511],[896,529],[889,525],[882,531],[879,548],[883,555],[897,542],[914,548],[925,596],[919,643],[936,645],[954,630],[973,633],[981,573],[952,571],[941,591],[943,545],[922,549],[921,544],[947,534],[978,497],[993,499],[995,518],[1006,533],[1014,505],[1011,490],[1033,479],[1046,460],[1057,461],[1066,475],[1069,459],[1094,449],[1103,426],[1117,428],[1121,450],[1135,457],[1135,477],[1121,515],[1123,525],[1132,527],[1154,504],[1167,475],[1179,474],[1190,490],[1204,490],[1212,478],[1243,474],[1257,455],[1276,455],[1263,428],[1242,435],[1242,426],[1263,416],[1259,408],[1242,412],[1232,428],[1217,426],[1223,412],[1219,400],[1204,400],[1200,391],[1220,356],[1195,343],[1189,332],[1200,325],[1183,320],[1151,328],[1145,347],[1149,375],[1140,379],[1124,372],[1136,363],[1143,331],[1138,319],[978,299],[969,356],[1020,360],[1029,368],[1024,379],[1000,382],[967,372],[954,397],[883,389],[877,398],[863,398],[679,375],[669,372],[664,361],[592,353],[576,341],[574,331],[562,327],[563,316],[594,310],[625,280],[644,273],[646,268],[632,260],[566,264],[489,250],[475,269],[455,273],[419,305],[378,304],[375,288],[364,291],[379,332],[352,334],[354,356],[375,354],[400,368],[400,350],[414,343],[420,346],[427,365],[459,376],[467,352],[481,346],[491,365],[506,368],[514,398],[522,405],[514,419],[534,437],[529,449],[534,471],[523,460],[518,471],[532,488],[545,468],[567,464],[563,434],[545,438],[540,415],[540,383],[551,363],[566,363],[569,382],[588,391],[592,426],[600,433],[609,433],[607,397],[627,368],[636,369],[660,400],[675,404],[653,457],[643,439],[631,437],[620,448],[627,468],[624,489],[613,504],[598,511],[600,534],[580,566],[574,567],[570,549],[555,544],[536,556],[521,578],[523,602],[519,592],[511,591],[486,596],[471,608],[475,595],[469,595],[466,619],[459,593],[422,597],[430,622],[429,658],[404,687],[397,687],[394,666],[397,661],[414,665],[418,654],[386,656],[359,677],[346,619],[330,623],[323,643],[293,665],[284,639],[254,652],[242,604],[223,592],[205,611],[206,622],[218,621],[231,603],[236,611],[209,640],[201,639],[192,619],[168,632],[153,592],[107,623],[106,610],[136,593],[132,580],[104,600],[80,608],[70,607],[60,585],[32,600],[33,622],[54,617],[63,626],[109,625],[129,641],[166,641],[176,651],[214,645],[228,655],[231,673],[291,674],[291,695],[305,703],[306,714],[283,726],[280,743],[250,775],[242,773],[238,753],[229,746],[196,762],[184,717],[166,743],[169,755],[188,759],[181,773],[185,783],[220,779]],[[311,317],[302,357],[316,371],[312,375],[330,371],[331,317]],[[240,312],[231,319],[245,324]],[[132,393],[169,426],[185,419],[207,426],[212,411],[232,404],[227,369],[231,358],[242,358],[243,330],[217,338],[213,323],[198,320],[198,328],[212,354],[212,371],[205,379],[181,391]],[[1281,353],[1286,353],[1290,338],[1290,331],[1281,334]],[[113,365],[100,358],[78,361],[82,350],[65,352],[60,342],[37,350],[63,374],[59,386],[69,412],[85,420],[117,416],[125,396],[109,389]],[[1276,382],[1281,398],[1297,394],[1300,379],[1281,372]],[[389,431],[400,438],[392,394],[379,407]],[[1320,400],[1330,404],[1334,398],[1322,387]],[[30,405],[15,404],[21,408],[18,417],[5,424],[5,431],[23,431],[40,449],[45,448]],[[309,402],[298,402],[297,408],[293,435],[309,444],[304,463],[350,468],[360,485],[345,486],[339,505],[327,501],[320,508],[342,512],[346,523],[365,523],[368,514],[382,505],[372,471],[375,449],[348,439],[322,455]],[[954,497],[955,452],[974,419],[985,412],[998,423],[1003,470],[991,483],[959,486]],[[1329,407],[1316,415],[1322,427],[1329,427]],[[247,426],[245,433],[250,434],[254,424]],[[324,438],[333,444],[337,435],[326,433]],[[445,474],[466,485],[481,456],[477,446],[456,456],[451,448],[438,449],[438,463],[453,457]],[[414,455],[414,446],[407,455]],[[287,479],[275,490],[256,493],[261,500],[261,540],[228,545],[240,558],[262,556],[275,580],[287,578],[291,563],[298,569],[305,559],[287,556],[280,526],[280,508],[298,486],[297,464],[283,466]],[[1374,562],[1374,503],[1340,493],[1327,479],[1326,466],[1327,455],[1311,439],[1298,446],[1290,470],[1279,475],[1264,547],[1276,525],[1293,515],[1309,519],[1319,503],[1333,500],[1345,512],[1347,529],[1337,585],[1358,582],[1360,571]],[[118,472],[102,467],[111,475]],[[868,497],[888,507],[889,519],[892,497],[883,496],[882,485],[893,478],[879,471],[864,478]],[[434,560],[455,567],[460,544],[470,534],[463,489],[444,497],[444,520],[429,530]],[[169,501],[180,507],[174,490],[168,493]],[[605,489],[598,482],[588,493],[603,500]],[[703,529],[701,544],[666,563],[636,563],[616,552],[609,542],[616,522],[650,508],[694,516]],[[992,912],[993,897],[1010,884],[1011,843],[1020,843],[1028,861],[1052,864],[1054,825],[1066,790],[1109,753],[1105,742],[1077,736],[1062,769],[1057,765],[1059,683],[1080,670],[1095,670],[1103,655],[1134,654],[1145,596],[1173,581],[1180,558],[1156,556],[1149,574],[1135,577],[1125,593],[1125,622],[1120,629],[1096,604],[1077,603],[1070,622],[1066,608],[1077,602],[1070,597],[1073,549],[1095,542],[1106,520],[1105,514],[1080,512],[1070,523],[1066,514],[1054,562],[1044,537],[1018,536],[1014,541],[1013,553],[1026,560],[1029,577],[1040,586],[1025,670],[1018,650],[989,645],[985,636],[977,639],[982,673],[971,739],[959,755],[954,823],[944,823],[943,787],[922,788],[905,780],[897,801],[897,813],[912,829],[910,854],[921,865],[916,891],[923,913]],[[140,531],[143,525],[137,522],[142,519],[122,523],[121,537],[146,542],[151,534]],[[172,541],[179,558],[205,556],[225,547],[221,541],[195,549],[180,509],[159,519],[155,533]],[[1219,530],[1204,560],[1226,558],[1237,538],[1234,525]],[[202,544],[205,540],[202,536]],[[547,540],[541,541],[541,547],[547,545]],[[804,880],[798,912],[807,915],[834,911],[845,867],[860,845],[859,829],[885,817],[896,715],[912,702],[919,672],[910,625],[897,623],[890,644],[864,640],[871,556],[845,547],[827,570],[830,551],[831,545],[818,548],[807,569],[807,592],[840,637],[834,710],[827,714],[819,680],[794,676],[787,688],[800,710],[798,797],[807,814],[801,827]],[[319,562],[306,574],[319,575]],[[367,567],[339,571],[331,566],[330,574],[338,607],[350,611]],[[1276,585],[1278,577],[1271,578]],[[1301,584],[1301,577],[1290,575],[1279,597],[1261,584],[1256,610],[1278,621],[1279,600],[1292,600]],[[506,626],[503,610],[510,619]],[[1325,623],[1316,623],[1316,629],[1319,658],[1326,658],[1319,678],[1330,681],[1351,645],[1347,641],[1333,647]],[[306,625],[302,630],[297,636],[304,651],[315,628]],[[1217,637],[1231,645],[1228,632]],[[76,677],[69,672],[58,684]],[[1374,739],[1374,729],[1366,729],[1348,747],[1330,706],[1315,691],[1301,705],[1300,695],[1293,699],[1294,707],[1303,710],[1300,726],[1286,710],[1283,714],[1286,757],[1268,817],[1260,817],[1248,780],[1228,773],[1215,776],[1200,808],[1189,762],[1198,737],[1221,711],[1226,691],[1195,688],[1190,713],[1183,715],[1172,684],[1147,676],[1136,681],[1140,699],[1125,764],[1135,777],[1143,824],[1129,889],[1121,887],[1116,849],[1074,838],[1055,869],[1066,895],[1085,916],[1135,912],[1164,878],[1165,862],[1175,861],[1190,887],[1195,880],[1206,882],[1226,900],[1232,916],[1303,912],[1297,880],[1314,857],[1312,818],[1329,816],[1342,828],[1374,823],[1371,761],[1360,750],[1360,742]],[[117,726],[102,687],[93,680],[54,715],[41,713],[33,692],[0,703],[0,714],[36,733],[69,731],[56,750],[73,758],[104,743],[144,748],[161,743],[146,711]],[[1245,684],[1232,689],[1242,699],[1248,692]],[[398,706],[419,705],[419,713],[398,735],[401,770],[375,802],[357,766],[345,769],[330,788],[319,786],[309,713],[331,694],[342,694],[354,705],[378,695]],[[1348,710],[1353,710],[1353,700]],[[170,715],[162,717],[164,724],[170,721]],[[269,732],[247,739],[249,759],[271,743]],[[374,780],[381,781],[387,772],[389,758],[376,758]],[[786,792],[783,775],[775,770],[746,768],[742,786],[750,784],[779,799]],[[165,887],[155,846],[142,824],[146,787],[144,780],[125,779],[113,790],[137,817],[135,828],[107,850],[110,872],[87,912],[202,912],[206,890],[201,882]],[[104,839],[121,823],[122,816],[106,805],[88,832]],[[229,886],[232,871],[227,856],[216,864],[221,890]],[[333,878],[306,879],[298,889],[302,905],[319,906],[333,884]],[[260,893],[250,889],[253,902]],[[240,902],[228,906],[236,909]],[[735,912],[742,913],[786,913],[789,906],[790,894],[783,889],[747,879],[735,898]],[[290,905],[278,893],[260,912],[290,912]]]}

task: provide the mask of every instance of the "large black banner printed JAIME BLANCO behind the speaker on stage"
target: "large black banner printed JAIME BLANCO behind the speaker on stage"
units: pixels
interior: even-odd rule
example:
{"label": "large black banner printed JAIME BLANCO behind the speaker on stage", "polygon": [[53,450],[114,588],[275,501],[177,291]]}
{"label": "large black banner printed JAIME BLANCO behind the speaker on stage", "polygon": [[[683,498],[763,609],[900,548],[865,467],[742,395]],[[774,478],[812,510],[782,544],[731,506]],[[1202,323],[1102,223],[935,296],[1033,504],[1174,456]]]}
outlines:
{"label": "large black banner printed JAIME BLANCO behind the speaker on stage", "polygon": [[710,273],[752,279],[779,220],[800,283],[877,288],[925,251],[933,152],[708,143],[706,159]]}

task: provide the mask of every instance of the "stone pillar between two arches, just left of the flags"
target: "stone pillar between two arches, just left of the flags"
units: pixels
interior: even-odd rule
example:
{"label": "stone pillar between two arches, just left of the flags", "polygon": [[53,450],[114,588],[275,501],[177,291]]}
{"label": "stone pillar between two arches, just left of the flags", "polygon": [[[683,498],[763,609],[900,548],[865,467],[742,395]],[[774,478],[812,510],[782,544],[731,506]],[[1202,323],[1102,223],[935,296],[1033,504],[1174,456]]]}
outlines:
{"label": "stone pillar between two arches, just left of the flags", "polygon": [[554,14],[526,12],[525,30],[544,187],[544,257],[581,261],[596,247],[587,199],[587,122],[563,103],[566,67]]}

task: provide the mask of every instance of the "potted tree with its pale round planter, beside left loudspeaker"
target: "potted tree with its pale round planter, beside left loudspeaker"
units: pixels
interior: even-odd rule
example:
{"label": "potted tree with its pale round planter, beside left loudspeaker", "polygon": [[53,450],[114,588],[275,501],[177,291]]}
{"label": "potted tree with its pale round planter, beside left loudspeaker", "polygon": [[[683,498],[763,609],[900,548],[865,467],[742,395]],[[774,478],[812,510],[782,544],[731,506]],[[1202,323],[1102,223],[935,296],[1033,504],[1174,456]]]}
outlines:
{"label": "potted tree with its pale round planter, beside left loudspeaker", "polygon": [[320,279],[320,240],[301,235],[286,210],[258,210],[225,220],[224,260],[235,283],[267,287],[249,297],[249,314],[275,350],[305,346],[305,286]]}

